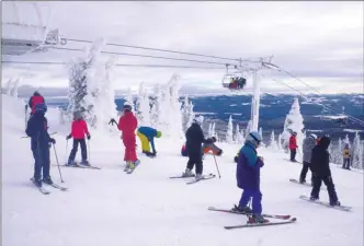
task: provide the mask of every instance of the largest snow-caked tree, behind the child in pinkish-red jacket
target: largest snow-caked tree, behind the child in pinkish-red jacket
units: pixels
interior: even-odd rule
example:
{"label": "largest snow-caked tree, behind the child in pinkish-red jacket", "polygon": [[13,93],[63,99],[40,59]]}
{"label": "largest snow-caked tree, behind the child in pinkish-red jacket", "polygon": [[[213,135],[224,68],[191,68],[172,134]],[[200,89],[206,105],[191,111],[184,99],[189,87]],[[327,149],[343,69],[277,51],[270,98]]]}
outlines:
{"label": "largest snow-caked tree, behind the child in pinkish-red jacket", "polygon": [[72,118],[76,112],[82,114],[84,119],[95,126],[98,110],[98,97],[100,93],[100,51],[104,40],[92,44],[86,56],[75,59],[69,66],[69,105],[67,113]]}

